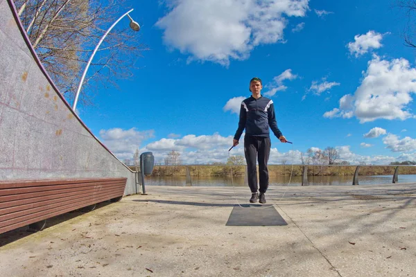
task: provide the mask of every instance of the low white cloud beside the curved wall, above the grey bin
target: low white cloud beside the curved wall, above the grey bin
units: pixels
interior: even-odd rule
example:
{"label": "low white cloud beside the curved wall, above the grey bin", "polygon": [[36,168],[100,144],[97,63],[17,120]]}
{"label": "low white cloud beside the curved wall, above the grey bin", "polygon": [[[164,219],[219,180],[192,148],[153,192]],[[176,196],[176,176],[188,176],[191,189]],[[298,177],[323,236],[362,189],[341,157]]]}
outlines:
{"label": "low white cloud beside the curved wall, above the grey bin", "polygon": [[136,128],[124,130],[121,128],[101,129],[100,136],[104,145],[113,152],[116,157],[130,159],[137,148],[146,139],[154,137],[154,130],[137,131]]}

